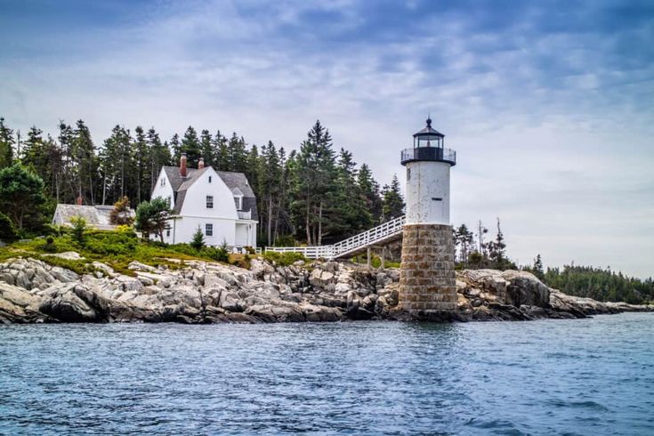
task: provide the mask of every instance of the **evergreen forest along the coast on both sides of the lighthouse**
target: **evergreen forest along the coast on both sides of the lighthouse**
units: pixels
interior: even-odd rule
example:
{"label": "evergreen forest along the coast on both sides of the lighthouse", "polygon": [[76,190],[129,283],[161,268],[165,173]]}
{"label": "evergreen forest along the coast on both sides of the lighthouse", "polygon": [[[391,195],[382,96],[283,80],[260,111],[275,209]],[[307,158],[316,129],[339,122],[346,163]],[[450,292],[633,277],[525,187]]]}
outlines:
{"label": "evergreen forest along the coast on both sides of the lighthouse", "polygon": [[[116,125],[95,141],[83,120],[58,124],[56,137],[32,126],[14,131],[0,117],[0,240],[47,234],[58,203],[136,208],[149,201],[162,166],[188,165],[200,158],[218,171],[246,174],[257,198],[258,240],[262,246],[330,244],[404,214],[400,181],[377,182],[347,149],[336,149],[328,129],[316,121],[297,149],[248,144],[238,133],[197,130],[162,140],[154,127],[133,131]],[[495,236],[482,222],[454,228],[459,269],[517,269],[506,254],[499,219]],[[593,267],[543,270],[540,255],[523,266],[550,287],[599,301],[654,301],[652,279]]]}

